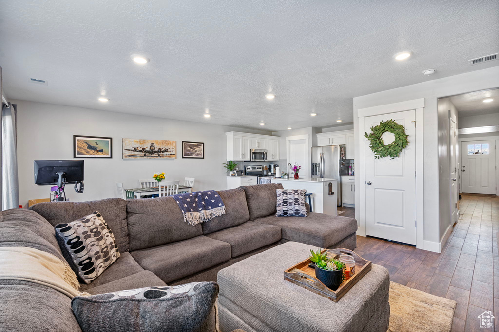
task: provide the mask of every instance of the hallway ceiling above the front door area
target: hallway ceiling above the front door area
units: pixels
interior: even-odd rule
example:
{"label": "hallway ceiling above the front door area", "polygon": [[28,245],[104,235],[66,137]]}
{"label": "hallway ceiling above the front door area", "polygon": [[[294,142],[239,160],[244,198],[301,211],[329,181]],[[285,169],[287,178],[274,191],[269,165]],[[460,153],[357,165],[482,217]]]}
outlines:
{"label": "hallway ceiling above the front door area", "polygon": [[[494,101],[484,103],[484,99],[487,98],[492,98]],[[470,92],[450,99],[459,116],[499,113],[499,89]]]}

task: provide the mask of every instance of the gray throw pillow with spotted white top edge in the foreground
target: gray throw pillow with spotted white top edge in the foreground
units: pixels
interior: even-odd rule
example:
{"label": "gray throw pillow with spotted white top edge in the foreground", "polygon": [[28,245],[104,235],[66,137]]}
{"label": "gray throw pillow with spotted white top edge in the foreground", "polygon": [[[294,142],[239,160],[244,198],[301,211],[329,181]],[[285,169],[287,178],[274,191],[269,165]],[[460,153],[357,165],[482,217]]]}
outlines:
{"label": "gray throw pillow with spotted white top edge in the foreground", "polygon": [[71,308],[83,332],[215,332],[216,282],[77,296]]}

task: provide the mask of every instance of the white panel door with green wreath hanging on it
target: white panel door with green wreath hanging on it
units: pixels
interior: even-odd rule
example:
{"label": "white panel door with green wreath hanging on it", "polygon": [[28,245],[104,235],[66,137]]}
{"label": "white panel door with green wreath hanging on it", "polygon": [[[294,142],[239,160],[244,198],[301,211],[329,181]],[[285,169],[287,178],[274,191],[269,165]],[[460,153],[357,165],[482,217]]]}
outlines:
{"label": "white panel door with green wreath hanging on it", "polygon": [[[365,140],[366,234],[416,244],[416,111],[365,118],[365,131],[394,119],[405,127],[409,145],[398,158],[375,159]],[[389,144],[385,141],[385,145]]]}

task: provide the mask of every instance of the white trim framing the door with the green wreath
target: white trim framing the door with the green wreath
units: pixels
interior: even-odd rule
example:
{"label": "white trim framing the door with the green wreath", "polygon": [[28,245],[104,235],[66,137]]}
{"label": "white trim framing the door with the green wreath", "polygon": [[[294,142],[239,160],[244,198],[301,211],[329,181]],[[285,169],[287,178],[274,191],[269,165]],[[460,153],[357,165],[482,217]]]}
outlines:
{"label": "white trim framing the door with the green wreath", "polygon": [[[360,209],[360,221],[359,229],[357,234],[361,236],[366,236],[366,187],[362,185],[362,182],[366,182],[365,173],[365,148],[366,139],[364,137],[364,127],[366,116],[371,115],[382,115],[395,113],[400,111],[411,111],[416,112],[416,248],[439,251],[440,248],[435,247],[434,242],[429,242],[424,240],[425,229],[424,229],[424,151],[423,151],[423,125],[424,117],[423,111],[425,108],[425,99],[413,99],[400,103],[393,103],[387,105],[380,105],[369,107],[365,109],[359,109],[357,111],[357,117],[359,118],[359,131],[357,132],[357,138],[359,140],[359,163],[362,165],[360,172],[358,173],[358,186],[360,189],[359,197],[359,207]],[[357,174],[356,174],[357,176]]]}

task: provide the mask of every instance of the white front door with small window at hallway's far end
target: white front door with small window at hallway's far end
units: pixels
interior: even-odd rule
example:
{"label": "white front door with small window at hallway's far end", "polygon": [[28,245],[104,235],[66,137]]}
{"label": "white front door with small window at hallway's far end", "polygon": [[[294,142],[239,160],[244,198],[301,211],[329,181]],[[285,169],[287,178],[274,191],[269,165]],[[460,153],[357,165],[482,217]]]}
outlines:
{"label": "white front door with small window at hallway's far end", "polygon": [[496,195],[496,141],[461,142],[463,193]]}

